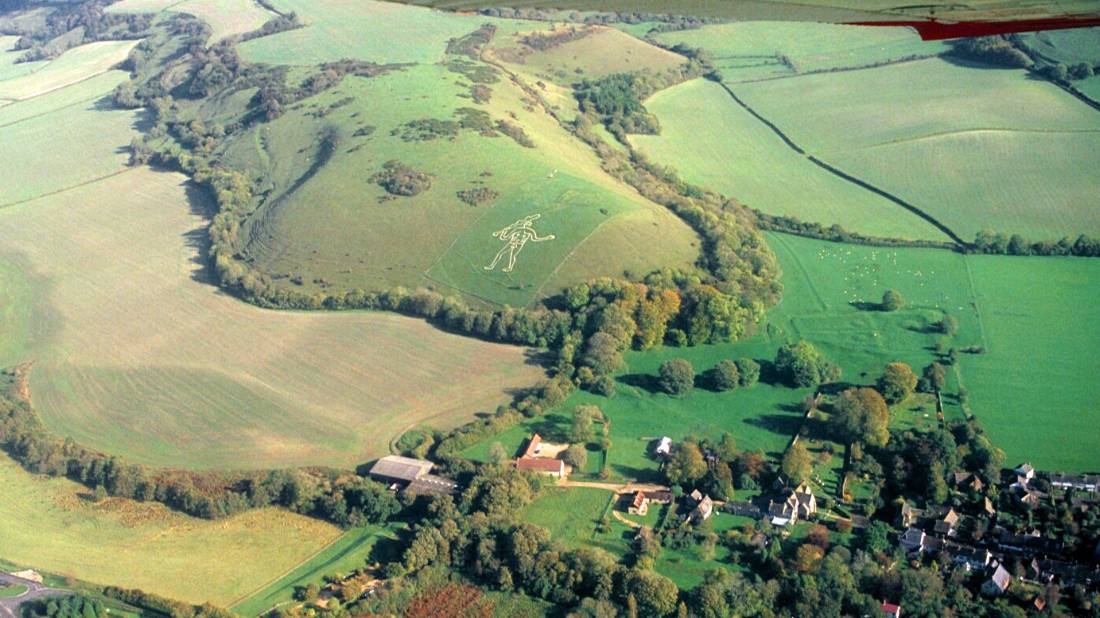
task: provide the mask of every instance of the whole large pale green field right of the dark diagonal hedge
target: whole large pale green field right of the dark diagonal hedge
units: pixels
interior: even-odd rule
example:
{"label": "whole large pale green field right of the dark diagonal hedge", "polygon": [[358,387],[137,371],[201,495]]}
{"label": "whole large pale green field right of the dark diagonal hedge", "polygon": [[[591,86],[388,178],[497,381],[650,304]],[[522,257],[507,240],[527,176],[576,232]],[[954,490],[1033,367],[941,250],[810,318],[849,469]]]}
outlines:
{"label": "whole large pale green field right of the dark diagonal hedge", "polygon": [[1097,189],[1081,170],[1100,163],[1100,115],[1023,71],[931,59],[736,89],[806,151],[964,238],[988,228],[1030,238],[1100,231],[1079,203]]}

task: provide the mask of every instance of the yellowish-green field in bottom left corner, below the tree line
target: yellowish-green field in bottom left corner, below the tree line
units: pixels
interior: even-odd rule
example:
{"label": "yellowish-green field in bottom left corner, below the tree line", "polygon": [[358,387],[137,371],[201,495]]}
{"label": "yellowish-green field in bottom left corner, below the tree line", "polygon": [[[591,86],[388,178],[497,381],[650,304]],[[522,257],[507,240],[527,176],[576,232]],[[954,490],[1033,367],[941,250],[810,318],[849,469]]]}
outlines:
{"label": "yellowish-green field in bottom left corner, below the tree line", "polygon": [[226,606],[340,537],[279,509],[207,521],[154,504],[91,503],[82,486],[26,473],[7,455],[0,485],[4,559],[190,603]]}

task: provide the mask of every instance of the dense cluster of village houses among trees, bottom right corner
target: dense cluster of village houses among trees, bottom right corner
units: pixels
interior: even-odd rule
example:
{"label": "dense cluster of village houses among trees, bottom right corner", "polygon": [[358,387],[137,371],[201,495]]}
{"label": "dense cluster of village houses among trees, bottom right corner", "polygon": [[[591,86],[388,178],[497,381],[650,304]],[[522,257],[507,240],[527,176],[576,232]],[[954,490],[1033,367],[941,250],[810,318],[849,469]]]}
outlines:
{"label": "dense cluster of village houses among trees, bottom right corner", "polygon": [[[1041,476],[1034,467],[1022,464],[1003,482],[1002,496],[1008,492],[1010,503],[1019,506],[1020,512],[1026,512],[1026,509],[1035,508],[1050,497],[1048,488],[1075,489],[1093,494],[1092,497],[1077,497],[1075,500],[1100,507],[1100,496],[1094,495],[1098,488],[1096,475],[1050,474],[1043,476],[1046,483],[1040,483],[1038,478]],[[980,494],[983,488],[981,479],[969,473],[956,473],[955,485],[964,493]],[[990,596],[1003,594],[1015,578],[1004,566],[1008,559],[1016,559],[1027,565],[1026,573],[1020,577],[1026,582],[1082,584],[1089,587],[1100,585],[1100,567],[1094,563],[1080,564],[1067,560],[1065,543],[1060,539],[1049,538],[1037,528],[1021,531],[1001,526],[999,514],[988,496],[981,496],[965,514],[953,507],[922,510],[906,503],[899,510],[898,525],[903,530],[898,544],[908,556],[946,556],[957,567],[982,572],[987,578],[981,591]]]}

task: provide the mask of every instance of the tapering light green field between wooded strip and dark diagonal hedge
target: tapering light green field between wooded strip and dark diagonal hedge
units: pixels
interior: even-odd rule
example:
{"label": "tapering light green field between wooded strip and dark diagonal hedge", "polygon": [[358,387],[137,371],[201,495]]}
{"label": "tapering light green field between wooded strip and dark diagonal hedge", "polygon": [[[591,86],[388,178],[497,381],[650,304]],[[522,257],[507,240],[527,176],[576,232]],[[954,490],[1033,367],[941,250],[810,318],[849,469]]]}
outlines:
{"label": "tapering light green field between wooded strip and dark diagonal hedge", "polygon": [[690,183],[769,214],[870,235],[946,240],[923,219],[794,152],[714,81],[668,88],[646,108],[660,119],[661,134],[630,141]]}

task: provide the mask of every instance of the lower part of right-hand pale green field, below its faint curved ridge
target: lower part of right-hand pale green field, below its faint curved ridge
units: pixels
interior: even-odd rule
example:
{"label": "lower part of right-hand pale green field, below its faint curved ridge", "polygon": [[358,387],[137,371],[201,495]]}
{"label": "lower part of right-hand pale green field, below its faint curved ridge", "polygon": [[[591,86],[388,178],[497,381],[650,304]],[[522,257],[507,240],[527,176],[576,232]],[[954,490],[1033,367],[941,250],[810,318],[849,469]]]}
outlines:
{"label": "lower part of right-hand pale green field, below its faint curved ridge", "polygon": [[1036,240],[1100,232],[1100,128],[968,131],[838,154],[832,162],[967,240],[982,230]]}

